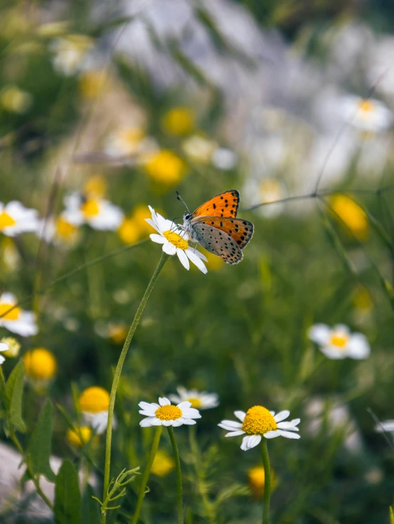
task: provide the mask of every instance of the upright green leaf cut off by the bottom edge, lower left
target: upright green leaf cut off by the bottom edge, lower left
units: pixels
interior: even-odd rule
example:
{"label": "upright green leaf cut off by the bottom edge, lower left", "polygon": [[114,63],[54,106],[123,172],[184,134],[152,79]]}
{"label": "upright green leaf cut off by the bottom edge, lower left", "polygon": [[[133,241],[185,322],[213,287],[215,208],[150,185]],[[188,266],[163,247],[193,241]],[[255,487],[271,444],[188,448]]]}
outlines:
{"label": "upright green leaf cut off by the bottom edge, lower left", "polygon": [[56,477],[53,509],[55,524],[82,524],[78,474],[69,460],[63,462]]}

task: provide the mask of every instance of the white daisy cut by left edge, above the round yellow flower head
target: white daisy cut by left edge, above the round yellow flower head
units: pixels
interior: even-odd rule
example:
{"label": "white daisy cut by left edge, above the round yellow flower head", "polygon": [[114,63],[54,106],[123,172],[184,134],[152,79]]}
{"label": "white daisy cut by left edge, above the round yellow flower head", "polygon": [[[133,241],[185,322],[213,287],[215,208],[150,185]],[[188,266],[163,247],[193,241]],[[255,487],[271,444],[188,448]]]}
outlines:
{"label": "white daisy cut by left edge, above the round yellow flower head", "polygon": [[[22,337],[31,337],[38,333],[38,327],[32,311],[23,311],[14,307],[18,300],[12,293],[3,293],[0,296],[0,327],[5,327]],[[11,308],[14,309],[11,310]],[[10,311],[11,310],[11,311]]]}

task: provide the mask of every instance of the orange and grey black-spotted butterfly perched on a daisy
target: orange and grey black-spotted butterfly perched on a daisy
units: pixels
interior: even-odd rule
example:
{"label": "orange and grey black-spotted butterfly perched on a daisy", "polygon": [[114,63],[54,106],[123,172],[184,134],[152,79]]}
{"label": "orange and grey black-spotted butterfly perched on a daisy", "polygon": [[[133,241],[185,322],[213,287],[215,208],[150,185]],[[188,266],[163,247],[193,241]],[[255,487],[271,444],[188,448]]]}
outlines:
{"label": "orange and grey black-spotted butterfly perched on a daisy", "polygon": [[[178,195],[179,200],[185,202]],[[182,229],[207,251],[220,256],[228,264],[243,259],[243,249],[252,238],[252,222],[236,218],[240,193],[230,190],[220,193],[201,204],[195,212],[183,214]]]}

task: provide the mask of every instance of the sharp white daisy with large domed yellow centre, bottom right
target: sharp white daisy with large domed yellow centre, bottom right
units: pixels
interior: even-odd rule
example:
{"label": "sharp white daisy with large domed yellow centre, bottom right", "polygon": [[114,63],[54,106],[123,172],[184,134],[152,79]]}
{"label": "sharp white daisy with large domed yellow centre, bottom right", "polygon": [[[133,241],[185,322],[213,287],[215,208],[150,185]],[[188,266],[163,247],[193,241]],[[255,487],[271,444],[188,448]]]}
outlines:
{"label": "sharp white daisy with large domed yellow centre, bottom right", "polygon": [[234,420],[222,420],[218,426],[230,432],[225,437],[237,437],[247,433],[247,436],[243,437],[241,444],[243,451],[260,444],[262,437],[274,439],[282,436],[287,439],[299,439],[299,435],[293,433],[293,431],[299,431],[297,425],[299,425],[300,419],[295,418],[289,422],[282,422],[290,415],[290,412],[287,410],[280,411],[275,415],[275,411],[268,411],[262,405],[255,405],[247,410],[247,413],[234,411],[234,415],[242,424]]}

